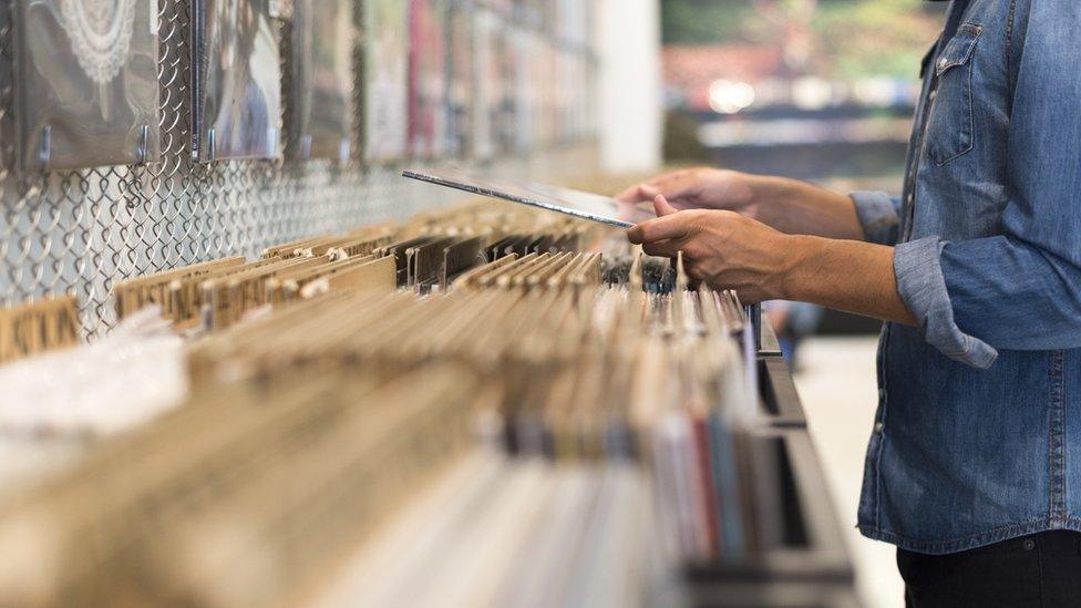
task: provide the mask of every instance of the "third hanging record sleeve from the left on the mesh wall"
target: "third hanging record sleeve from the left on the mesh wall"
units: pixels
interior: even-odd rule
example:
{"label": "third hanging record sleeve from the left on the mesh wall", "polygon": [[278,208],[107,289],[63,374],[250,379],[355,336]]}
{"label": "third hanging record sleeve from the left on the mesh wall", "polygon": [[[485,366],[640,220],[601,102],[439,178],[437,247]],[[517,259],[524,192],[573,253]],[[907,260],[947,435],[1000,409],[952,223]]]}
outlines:
{"label": "third hanging record sleeve from the left on the mesh wall", "polygon": [[352,130],[351,0],[295,0],[290,158],[349,159]]}

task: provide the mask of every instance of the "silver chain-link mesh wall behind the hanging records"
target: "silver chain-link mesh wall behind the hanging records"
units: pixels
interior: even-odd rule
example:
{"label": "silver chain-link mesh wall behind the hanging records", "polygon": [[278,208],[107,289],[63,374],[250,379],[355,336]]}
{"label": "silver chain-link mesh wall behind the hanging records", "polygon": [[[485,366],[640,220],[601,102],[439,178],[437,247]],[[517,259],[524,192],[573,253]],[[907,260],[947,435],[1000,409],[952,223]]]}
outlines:
{"label": "silver chain-link mesh wall behind the hanging records", "polygon": [[[0,145],[7,161],[14,152],[11,4],[0,2]],[[74,293],[84,332],[94,338],[115,322],[113,281],[223,256],[253,257],[269,245],[402,219],[456,198],[406,183],[401,166],[363,167],[356,158],[343,167],[318,161],[193,164],[189,4],[159,2],[162,162],[0,176],[0,303]],[[595,147],[505,158],[492,169],[549,179],[588,174],[596,169]]]}

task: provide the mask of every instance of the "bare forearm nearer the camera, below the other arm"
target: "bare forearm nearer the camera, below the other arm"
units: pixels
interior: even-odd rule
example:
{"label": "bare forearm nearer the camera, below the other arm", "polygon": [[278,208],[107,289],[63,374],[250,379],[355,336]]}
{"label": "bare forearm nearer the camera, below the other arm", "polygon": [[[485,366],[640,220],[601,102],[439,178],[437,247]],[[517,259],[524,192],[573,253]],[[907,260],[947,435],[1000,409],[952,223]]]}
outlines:
{"label": "bare forearm nearer the camera, below the other arm", "polygon": [[776,277],[778,298],[915,324],[897,292],[893,247],[809,236],[786,240],[791,253]]}

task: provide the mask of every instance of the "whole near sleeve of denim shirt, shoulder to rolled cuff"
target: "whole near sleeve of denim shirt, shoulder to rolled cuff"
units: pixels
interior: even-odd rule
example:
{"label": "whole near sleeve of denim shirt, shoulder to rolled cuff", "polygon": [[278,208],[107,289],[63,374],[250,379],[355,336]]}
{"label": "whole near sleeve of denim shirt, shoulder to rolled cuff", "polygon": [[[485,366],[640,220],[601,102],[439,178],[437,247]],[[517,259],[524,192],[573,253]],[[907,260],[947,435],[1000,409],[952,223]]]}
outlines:
{"label": "whole near sleeve of denim shirt, shoulder to rolled cuff", "polygon": [[1081,11],[1047,0],[1018,19],[1000,234],[894,251],[898,292],[925,339],[978,368],[996,349],[1081,348],[1081,71],[1070,50]]}

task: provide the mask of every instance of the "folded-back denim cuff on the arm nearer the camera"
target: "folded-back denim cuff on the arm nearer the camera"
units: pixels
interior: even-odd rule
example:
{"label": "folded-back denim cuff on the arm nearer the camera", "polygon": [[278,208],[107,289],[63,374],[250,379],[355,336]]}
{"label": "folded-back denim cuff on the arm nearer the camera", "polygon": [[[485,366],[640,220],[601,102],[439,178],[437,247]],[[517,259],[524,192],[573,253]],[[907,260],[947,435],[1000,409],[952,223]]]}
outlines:
{"label": "folded-back denim cuff on the arm nearer the camera", "polygon": [[898,245],[894,249],[897,291],[928,344],[954,361],[987,369],[998,358],[998,351],[961,331],[954,321],[954,307],[943,277],[941,251],[945,246],[938,237]]}

